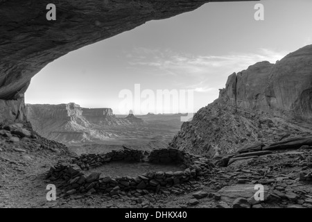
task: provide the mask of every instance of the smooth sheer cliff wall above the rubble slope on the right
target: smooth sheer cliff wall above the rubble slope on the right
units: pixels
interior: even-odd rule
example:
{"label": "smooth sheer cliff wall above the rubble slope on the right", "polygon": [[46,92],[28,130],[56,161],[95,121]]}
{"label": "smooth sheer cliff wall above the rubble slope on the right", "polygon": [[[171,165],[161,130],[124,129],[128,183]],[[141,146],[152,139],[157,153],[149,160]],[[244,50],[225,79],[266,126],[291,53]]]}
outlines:
{"label": "smooth sheer cliff wall above the rubble slope on the right", "polygon": [[220,99],[238,108],[312,119],[312,45],[275,65],[258,62],[232,74],[220,90]]}

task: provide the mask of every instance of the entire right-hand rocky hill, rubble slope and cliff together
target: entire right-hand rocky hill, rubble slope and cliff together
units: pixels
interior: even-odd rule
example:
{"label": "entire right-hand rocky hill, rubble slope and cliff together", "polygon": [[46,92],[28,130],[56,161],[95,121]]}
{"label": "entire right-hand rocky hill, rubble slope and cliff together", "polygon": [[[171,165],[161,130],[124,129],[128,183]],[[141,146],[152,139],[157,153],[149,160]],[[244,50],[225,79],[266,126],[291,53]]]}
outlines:
{"label": "entire right-hand rocky hill, rubble slope and cliff together", "polygon": [[312,132],[312,45],[232,74],[214,103],[185,122],[170,144],[209,156]]}

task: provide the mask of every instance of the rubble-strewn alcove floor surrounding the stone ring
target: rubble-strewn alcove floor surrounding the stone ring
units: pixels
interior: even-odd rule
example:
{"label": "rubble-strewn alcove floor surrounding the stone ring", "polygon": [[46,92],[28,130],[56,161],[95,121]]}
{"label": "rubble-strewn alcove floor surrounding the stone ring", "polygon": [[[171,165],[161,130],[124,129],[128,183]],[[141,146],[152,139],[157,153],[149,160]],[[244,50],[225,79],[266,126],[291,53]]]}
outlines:
{"label": "rubble-strewn alcove floor surrounding the stone ring", "polygon": [[[299,180],[302,166],[311,166],[312,149],[304,151],[279,151],[274,155],[263,155],[257,160],[240,160],[229,167],[216,167],[202,175],[198,180],[184,185],[175,185],[175,192],[167,194],[147,194],[131,196],[128,194],[110,197],[105,194],[59,195],[57,199],[47,201],[46,186],[53,183],[46,180],[46,172],[58,160],[71,157],[66,147],[51,143],[46,139],[21,139],[18,143],[8,142],[0,137],[0,208],[3,207],[231,207],[233,198],[246,195],[246,186],[257,182],[265,184],[270,193],[281,190],[287,198],[273,198],[261,207],[309,207],[312,208],[312,184]],[[103,166],[107,167],[107,166]],[[124,171],[127,168],[127,171]],[[140,168],[141,167],[141,168]],[[161,166],[159,170],[174,170],[177,166]],[[167,168],[168,167],[168,168]],[[155,169],[153,165],[134,165],[127,163],[96,170],[105,174],[113,171],[119,174],[137,174],[146,169]],[[306,167],[305,167],[306,168]],[[309,168],[309,167],[308,167]],[[157,169],[158,170],[158,169]],[[122,175],[120,175],[122,176]],[[242,182],[243,180],[243,182]],[[195,191],[218,192],[220,198],[200,198],[196,205],[192,194]],[[277,192],[277,194],[280,194]],[[276,194],[275,194],[276,196]]]}

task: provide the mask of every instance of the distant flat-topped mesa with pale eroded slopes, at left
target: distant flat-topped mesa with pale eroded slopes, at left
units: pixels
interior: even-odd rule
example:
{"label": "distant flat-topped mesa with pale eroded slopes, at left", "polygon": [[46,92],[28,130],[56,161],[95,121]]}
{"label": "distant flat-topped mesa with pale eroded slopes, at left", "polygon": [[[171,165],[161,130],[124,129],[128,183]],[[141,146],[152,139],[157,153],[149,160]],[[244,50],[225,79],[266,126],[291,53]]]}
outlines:
{"label": "distant flat-topped mesa with pale eroded slopes, at left", "polygon": [[[107,127],[138,124],[127,118],[117,118],[110,108],[80,108],[75,103],[60,105],[26,105],[28,120],[33,129],[48,139],[58,142],[86,142],[114,137],[105,132]],[[141,120],[141,123],[144,123]]]}

